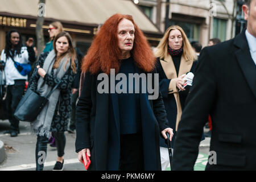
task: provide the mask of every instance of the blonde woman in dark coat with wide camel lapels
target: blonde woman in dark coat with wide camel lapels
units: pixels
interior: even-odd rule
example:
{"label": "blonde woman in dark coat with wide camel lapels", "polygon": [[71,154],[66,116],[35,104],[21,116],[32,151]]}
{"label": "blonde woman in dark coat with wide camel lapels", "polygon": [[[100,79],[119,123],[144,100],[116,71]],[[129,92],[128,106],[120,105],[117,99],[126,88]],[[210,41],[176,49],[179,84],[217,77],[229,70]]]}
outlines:
{"label": "blonde woman in dark coat with wide camel lapels", "polygon": [[[159,73],[159,86],[163,94],[164,107],[169,126],[174,129],[171,146],[174,147],[177,126],[179,125],[188,87],[183,88],[184,76],[194,72],[197,64],[196,53],[183,29],[179,26],[169,27],[155,51],[158,57],[156,69]],[[180,91],[180,92],[179,92]],[[167,144],[160,138],[162,170],[169,164]],[[166,158],[164,158],[166,157]]]}

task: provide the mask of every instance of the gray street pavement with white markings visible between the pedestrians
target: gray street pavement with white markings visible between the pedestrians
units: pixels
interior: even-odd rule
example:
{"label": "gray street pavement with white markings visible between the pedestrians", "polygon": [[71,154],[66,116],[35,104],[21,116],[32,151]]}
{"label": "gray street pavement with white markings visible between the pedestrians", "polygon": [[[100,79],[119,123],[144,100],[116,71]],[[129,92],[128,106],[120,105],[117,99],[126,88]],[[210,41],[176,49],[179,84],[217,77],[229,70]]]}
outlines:
{"label": "gray street pavement with white markings visible between the pedestrians", "polygon": [[[7,120],[0,120],[0,140],[5,144],[6,159],[0,164],[0,171],[35,171],[35,146],[36,135],[31,134],[30,123],[20,122],[20,134],[18,137],[10,137],[3,134],[9,129]],[[84,171],[84,166],[77,159],[75,152],[76,134],[65,133],[67,143],[64,155],[64,171]],[[208,160],[209,139],[200,143],[200,152],[195,164],[196,171],[203,171]],[[45,171],[51,171],[57,158],[56,148],[47,148],[47,158],[44,164]],[[170,167],[166,169],[170,170]]]}

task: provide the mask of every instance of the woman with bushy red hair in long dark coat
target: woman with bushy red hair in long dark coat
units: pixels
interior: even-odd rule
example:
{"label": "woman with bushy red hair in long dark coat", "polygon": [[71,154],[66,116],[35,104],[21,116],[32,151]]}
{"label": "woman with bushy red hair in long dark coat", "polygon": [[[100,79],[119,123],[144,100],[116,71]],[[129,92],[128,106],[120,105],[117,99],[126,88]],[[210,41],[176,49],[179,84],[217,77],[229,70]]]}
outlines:
{"label": "woman with bushy red hair in long dark coat", "polygon": [[[76,110],[76,152],[85,165],[90,157],[89,170],[161,169],[160,131],[166,139],[166,132],[170,140],[173,135],[162,96],[150,100],[149,91],[137,92],[136,85],[146,88],[143,78],[134,83],[133,77],[130,84],[130,75],[154,73],[155,61],[132,16],[115,14],[102,25],[82,63],[85,78]],[[113,81],[115,73],[120,78]]]}

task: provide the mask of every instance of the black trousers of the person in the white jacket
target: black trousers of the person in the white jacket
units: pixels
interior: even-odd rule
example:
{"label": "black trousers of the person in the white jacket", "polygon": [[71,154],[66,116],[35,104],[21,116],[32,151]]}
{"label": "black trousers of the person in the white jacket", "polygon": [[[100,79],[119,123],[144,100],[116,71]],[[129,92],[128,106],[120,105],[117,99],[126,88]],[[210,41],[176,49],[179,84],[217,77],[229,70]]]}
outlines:
{"label": "black trousers of the person in the white jacket", "polygon": [[6,109],[9,122],[11,123],[11,130],[14,131],[19,131],[19,120],[14,117],[14,111],[24,94],[25,81],[26,80],[15,80],[14,85],[7,86]]}

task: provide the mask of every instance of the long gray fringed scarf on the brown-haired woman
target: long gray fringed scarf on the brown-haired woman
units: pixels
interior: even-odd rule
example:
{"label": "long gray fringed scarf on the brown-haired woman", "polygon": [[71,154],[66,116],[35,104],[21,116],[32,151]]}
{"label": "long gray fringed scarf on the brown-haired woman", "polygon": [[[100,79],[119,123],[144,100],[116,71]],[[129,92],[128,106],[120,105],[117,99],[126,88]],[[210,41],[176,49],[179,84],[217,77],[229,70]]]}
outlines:
{"label": "long gray fringed scarf on the brown-haired woman", "polygon": [[[54,50],[49,52],[48,56],[46,57],[46,60],[44,61],[43,69],[46,71],[48,75],[51,75],[53,64],[55,63],[56,55]],[[61,59],[59,67],[57,69],[53,69],[53,77],[57,77],[61,79],[65,72],[68,70],[70,66],[70,61],[68,61],[66,67],[65,63],[68,59],[68,54]],[[65,71],[64,71],[65,67]],[[38,87],[37,92],[40,94],[40,96],[46,97],[49,92],[52,90],[52,86],[49,86],[46,84],[44,79],[42,77],[38,80]],[[51,96],[49,97],[49,102],[44,106],[41,113],[38,115],[38,117],[35,119],[34,122],[31,123],[32,130],[36,132],[39,136],[46,136],[47,138],[51,137],[51,123],[53,119],[53,115],[56,109],[57,101],[59,100],[60,96],[60,90],[56,89]]]}

